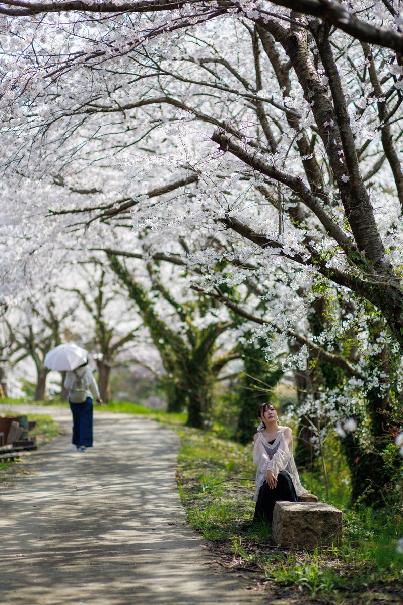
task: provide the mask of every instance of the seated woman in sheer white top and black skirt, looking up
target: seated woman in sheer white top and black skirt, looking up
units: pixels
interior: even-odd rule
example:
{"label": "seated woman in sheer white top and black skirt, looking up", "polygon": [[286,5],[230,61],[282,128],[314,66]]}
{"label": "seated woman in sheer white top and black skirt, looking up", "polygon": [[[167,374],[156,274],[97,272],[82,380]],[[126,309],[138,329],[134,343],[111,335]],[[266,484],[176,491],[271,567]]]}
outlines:
{"label": "seated woman in sheer white top and black skirt, looking up", "polygon": [[254,436],[253,462],[257,466],[254,522],[272,523],[277,500],[297,502],[307,492],[300,483],[292,456],[292,431],[277,424],[279,417],[271,404],[262,404],[257,412],[261,424]]}

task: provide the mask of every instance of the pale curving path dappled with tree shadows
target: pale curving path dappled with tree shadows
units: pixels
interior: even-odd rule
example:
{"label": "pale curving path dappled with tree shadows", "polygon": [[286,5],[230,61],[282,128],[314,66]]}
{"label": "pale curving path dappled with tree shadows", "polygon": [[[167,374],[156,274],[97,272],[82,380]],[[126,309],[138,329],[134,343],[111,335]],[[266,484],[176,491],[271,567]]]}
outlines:
{"label": "pale curving path dappled with tree shadows", "polygon": [[68,410],[17,410],[51,414],[65,434],[25,454],[22,473],[0,485],[3,605],[266,601],[243,577],[212,566],[187,525],[175,485],[175,433],[97,412],[94,448],[79,453],[70,443]]}

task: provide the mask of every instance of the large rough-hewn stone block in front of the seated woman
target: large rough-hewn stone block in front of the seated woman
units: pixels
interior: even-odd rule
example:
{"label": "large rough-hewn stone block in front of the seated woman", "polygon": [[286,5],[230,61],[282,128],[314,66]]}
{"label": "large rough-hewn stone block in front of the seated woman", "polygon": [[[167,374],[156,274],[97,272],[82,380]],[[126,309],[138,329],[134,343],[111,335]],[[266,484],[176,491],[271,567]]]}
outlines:
{"label": "large rough-hewn stone block in front of the seated woman", "polygon": [[271,541],[277,546],[305,548],[340,544],[343,513],[324,502],[284,502],[274,506]]}

